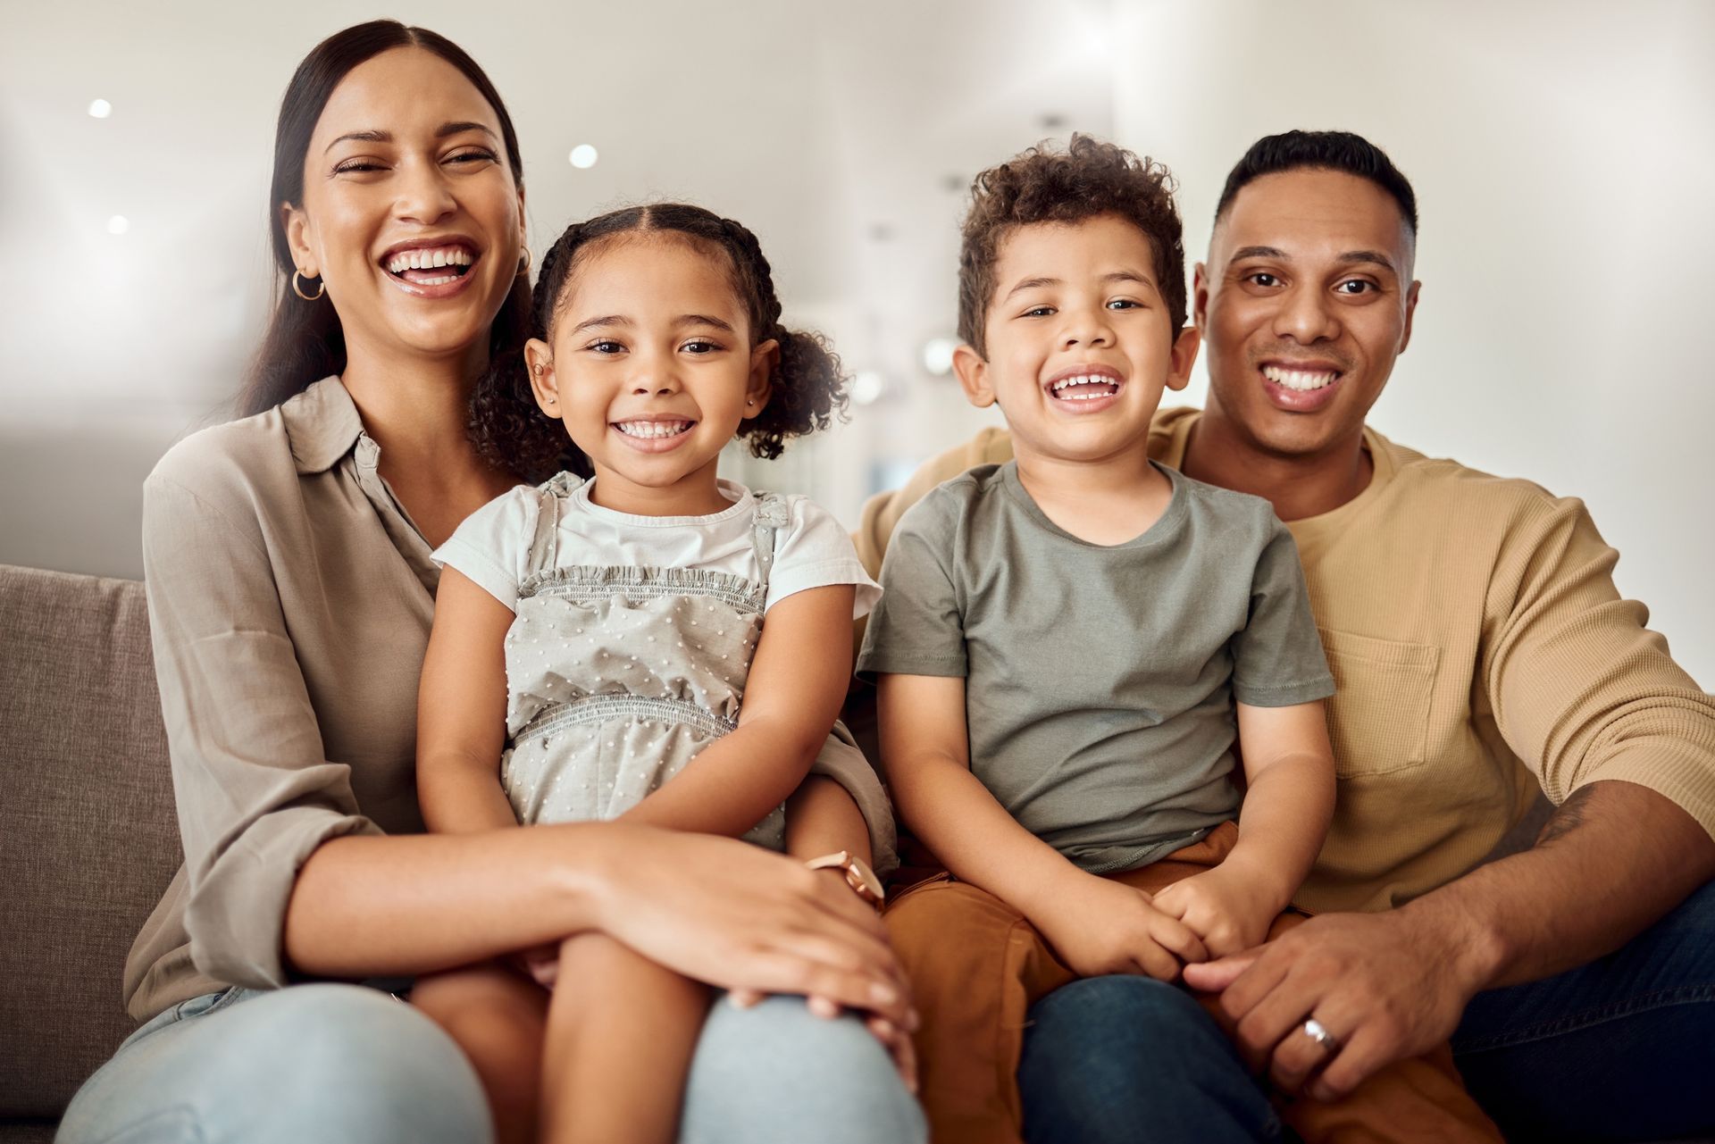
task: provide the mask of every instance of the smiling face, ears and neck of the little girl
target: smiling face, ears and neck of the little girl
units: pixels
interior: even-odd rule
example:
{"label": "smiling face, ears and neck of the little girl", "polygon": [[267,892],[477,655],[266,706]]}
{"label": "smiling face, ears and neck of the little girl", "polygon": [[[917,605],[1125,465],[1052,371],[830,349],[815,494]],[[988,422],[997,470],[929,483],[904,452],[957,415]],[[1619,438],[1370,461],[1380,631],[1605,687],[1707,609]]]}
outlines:
{"label": "smiling face, ears and neck of the little girl", "polygon": [[672,233],[624,233],[578,257],[552,345],[525,346],[537,405],[595,467],[595,501],[701,516],[720,449],[768,403],[777,343],[751,346],[725,256]]}

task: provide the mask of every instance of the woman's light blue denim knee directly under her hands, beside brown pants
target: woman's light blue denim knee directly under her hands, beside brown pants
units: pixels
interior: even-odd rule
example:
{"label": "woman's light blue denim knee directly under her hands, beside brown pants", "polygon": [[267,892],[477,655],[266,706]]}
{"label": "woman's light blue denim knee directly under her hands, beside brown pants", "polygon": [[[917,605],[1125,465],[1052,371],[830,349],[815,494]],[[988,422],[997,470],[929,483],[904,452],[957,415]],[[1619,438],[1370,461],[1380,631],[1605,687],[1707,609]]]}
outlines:
{"label": "woman's light blue denim knee directly under her hands, beside brown pants", "polygon": [[856,1017],[825,1021],[799,996],[715,1002],[691,1062],[684,1142],[911,1144],[923,1111]]}

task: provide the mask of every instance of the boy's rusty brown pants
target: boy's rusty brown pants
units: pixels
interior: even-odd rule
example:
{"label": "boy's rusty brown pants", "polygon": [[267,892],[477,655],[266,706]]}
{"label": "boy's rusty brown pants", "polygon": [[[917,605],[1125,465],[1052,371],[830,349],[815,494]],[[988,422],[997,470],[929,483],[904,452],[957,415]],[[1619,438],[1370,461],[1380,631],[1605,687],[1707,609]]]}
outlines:
{"label": "boy's rusty brown pants", "polygon": [[[1156,892],[1219,864],[1238,840],[1223,823],[1168,858],[1111,875]],[[1276,938],[1302,923],[1281,914]],[[1077,974],[1012,906],[974,885],[936,878],[906,890],[887,911],[888,936],[911,978],[923,1026],[918,1058],[923,1106],[935,1144],[1020,1141],[1019,1055],[1031,1005]],[[1200,998],[1218,1015],[1214,998]],[[1225,1027],[1223,1021],[1223,1027]],[[1281,1118],[1310,1144],[1369,1141],[1501,1141],[1442,1045],[1391,1065],[1334,1103],[1281,1101]]]}

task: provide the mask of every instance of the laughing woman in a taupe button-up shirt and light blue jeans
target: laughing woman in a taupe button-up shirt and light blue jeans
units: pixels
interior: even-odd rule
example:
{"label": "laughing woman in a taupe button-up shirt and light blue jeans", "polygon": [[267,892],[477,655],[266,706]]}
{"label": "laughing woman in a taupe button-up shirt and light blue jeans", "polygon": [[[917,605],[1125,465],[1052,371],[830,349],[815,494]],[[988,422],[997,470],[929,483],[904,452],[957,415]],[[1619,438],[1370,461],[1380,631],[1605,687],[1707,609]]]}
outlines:
{"label": "laughing woman in a taupe button-up shirt and light blue jeans", "polygon": [[[880,923],[839,876],[619,823],[418,834],[429,552],[544,460],[484,456],[466,431],[473,379],[528,312],[511,120],[456,45],[350,27],[292,79],[271,209],[290,280],[256,415],[180,443],[146,485],[187,863],[127,964],[146,1024],[60,1139],[527,1137],[532,1062],[461,1053],[384,991],[328,979],[410,978],[571,933],[909,1026]],[[504,398],[482,415],[506,417]],[[837,744],[823,763],[858,782]],[[787,996],[715,1007],[683,1123],[688,1141],[923,1137],[863,1026]]]}

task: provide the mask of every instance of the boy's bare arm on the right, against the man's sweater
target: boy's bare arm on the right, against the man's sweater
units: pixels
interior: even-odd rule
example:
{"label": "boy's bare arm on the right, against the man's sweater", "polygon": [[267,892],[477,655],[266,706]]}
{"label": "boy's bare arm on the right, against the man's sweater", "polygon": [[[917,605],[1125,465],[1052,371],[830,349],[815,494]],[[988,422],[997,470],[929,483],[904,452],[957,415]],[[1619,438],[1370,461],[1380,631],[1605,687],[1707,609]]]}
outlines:
{"label": "boy's bare arm on the right, against the man's sweater", "polygon": [[1334,818],[1334,751],[1322,703],[1238,705],[1245,803],[1238,842],[1207,873],[1156,894],[1216,957],[1250,948],[1310,873]]}

